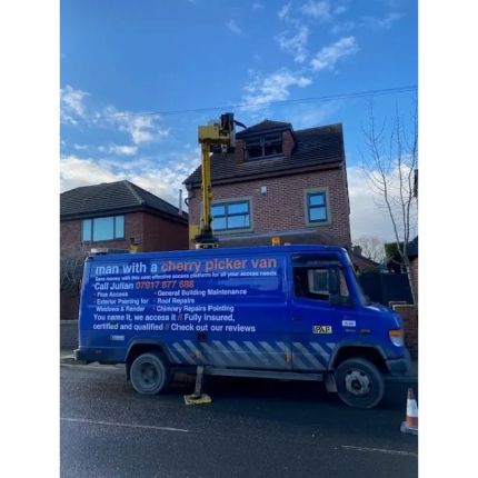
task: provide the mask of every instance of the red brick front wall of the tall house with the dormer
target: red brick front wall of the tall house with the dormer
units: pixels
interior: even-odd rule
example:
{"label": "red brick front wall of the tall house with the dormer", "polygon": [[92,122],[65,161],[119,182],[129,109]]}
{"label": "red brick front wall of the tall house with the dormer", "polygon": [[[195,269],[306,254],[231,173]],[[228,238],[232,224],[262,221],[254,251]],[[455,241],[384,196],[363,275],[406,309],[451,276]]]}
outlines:
{"label": "red brick front wall of the tall house with the dormer", "polygon": [[[267,187],[266,196],[260,192],[261,186]],[[313,225],[310,228],[329,237],[329,242],[350,246],[348,191],[343,167],[233,185],[216,185],[212,186],[212,201],[250,198],[255,233],[305,229],[308,226],[303,191],[313,188],[328,188],[330,223]],[[189,220],[192,225],[199,225],[200,203],[200,190],[195,189],[189,195]],[[220,235],[218,237],[220,238]],[[240,237],[240,233],[237,233],[237,237]]]}

